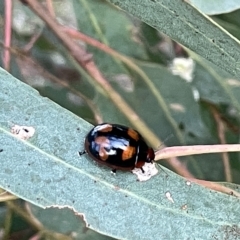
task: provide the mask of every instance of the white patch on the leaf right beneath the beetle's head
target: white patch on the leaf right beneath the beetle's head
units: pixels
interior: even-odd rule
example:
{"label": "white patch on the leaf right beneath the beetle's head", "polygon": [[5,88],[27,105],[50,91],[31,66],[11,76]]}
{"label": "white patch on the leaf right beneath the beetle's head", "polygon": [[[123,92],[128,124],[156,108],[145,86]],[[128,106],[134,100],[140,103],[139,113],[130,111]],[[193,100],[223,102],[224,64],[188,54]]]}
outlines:
{"label": "white patch on the leaf right beneath the beetle's head", "polygon": [[140,182],[147,181],[158,173],[155,163],[145,163],[142,168],[144,172],[140,168],[132,170],[132,173],[137,175],[137,179]]}

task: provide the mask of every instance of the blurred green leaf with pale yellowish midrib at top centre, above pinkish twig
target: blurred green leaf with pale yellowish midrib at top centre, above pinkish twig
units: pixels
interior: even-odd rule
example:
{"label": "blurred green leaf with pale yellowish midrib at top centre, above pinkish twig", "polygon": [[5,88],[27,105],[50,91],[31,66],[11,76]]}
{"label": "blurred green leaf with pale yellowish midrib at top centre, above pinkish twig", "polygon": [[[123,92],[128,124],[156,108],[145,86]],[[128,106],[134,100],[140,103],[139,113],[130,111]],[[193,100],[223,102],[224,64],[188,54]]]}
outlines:
{"label": "blurred green leaf with pale yellowish midrib at top centre, above pinkish twig", "polygon": [[[146,58],[143,46],[137,39],[134,39],[136,26],[121,11],[118,11],[106,1],[78,0],[72,1],[72,3],[78,20],[78,27],[86,35],[98,39],[128,56]],[[96,59],[100,65],[103,64],[102,59],[105,56],[106,54],[102,54],[101,57],[99,56]],[[110,69],[109,66],[111,66]],[[104,67],[114,70],[114,65],[111,62]]]}

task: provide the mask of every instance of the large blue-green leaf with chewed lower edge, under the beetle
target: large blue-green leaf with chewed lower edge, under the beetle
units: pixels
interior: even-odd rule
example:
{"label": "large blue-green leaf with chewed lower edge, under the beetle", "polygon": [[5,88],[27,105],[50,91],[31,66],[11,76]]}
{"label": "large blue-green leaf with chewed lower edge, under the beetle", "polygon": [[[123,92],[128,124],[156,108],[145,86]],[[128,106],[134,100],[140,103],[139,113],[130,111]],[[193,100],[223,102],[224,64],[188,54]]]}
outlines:
{"label": "large blue-green leaf with chewed lower edge, under the beetle", "polygon": [[[79,157],[91,125],[0,70],[0,186],[41,207],[69,207],[121,239],[234,239],[239,199],[165,169],[147,182]],[[28,141],[10,133],[32,126]],[[167,175],[166,175],[167,174]],[[167,198],[167,194],[171,198]]]}

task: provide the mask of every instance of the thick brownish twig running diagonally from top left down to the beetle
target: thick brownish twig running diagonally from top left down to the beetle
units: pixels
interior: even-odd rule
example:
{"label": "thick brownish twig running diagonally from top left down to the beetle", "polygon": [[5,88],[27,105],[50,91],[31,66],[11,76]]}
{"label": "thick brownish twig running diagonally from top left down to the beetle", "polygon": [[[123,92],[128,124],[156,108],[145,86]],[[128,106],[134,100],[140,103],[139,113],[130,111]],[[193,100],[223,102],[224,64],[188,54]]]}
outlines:
{"label": "thick brownish twig running diagonally from top left down to the beetle", "polygon": [[74,59],[85,69],[88,74],[105,90],[112,102],[125,114],[129,121],[140,131],[146,140],[153,146],[159,145],[159,138],[148,128],[148,126],[139,118],[136,112],[121,98],[121,96],[111,87],[108,81],[103,77],[95,63],[91,59],[91,54],[83,50],[65,33],[64,27],[55,21],[46,9],[36,0],[26,0],[28,6],[46,22],[49,28],[63,42],[63,45],[70,51]]}

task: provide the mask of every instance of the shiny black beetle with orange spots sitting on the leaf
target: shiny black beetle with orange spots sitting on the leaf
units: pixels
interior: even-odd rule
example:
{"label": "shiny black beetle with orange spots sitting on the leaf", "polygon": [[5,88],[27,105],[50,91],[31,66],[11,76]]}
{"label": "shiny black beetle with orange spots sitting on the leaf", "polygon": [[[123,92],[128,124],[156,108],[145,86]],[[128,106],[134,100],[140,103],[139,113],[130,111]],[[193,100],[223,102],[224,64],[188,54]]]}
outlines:
{"label": "shiny black beetle with orange spots sitting on the leaf", "polygon": [[79,155],[88,155],[100,164],[117,169],[132,170],[147,162],[153,162],[155,154],[139,132],[131,128],[110,123],[95,126],[86,136],[85,150]]}

